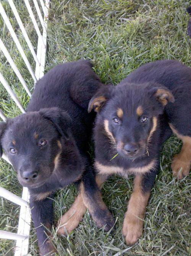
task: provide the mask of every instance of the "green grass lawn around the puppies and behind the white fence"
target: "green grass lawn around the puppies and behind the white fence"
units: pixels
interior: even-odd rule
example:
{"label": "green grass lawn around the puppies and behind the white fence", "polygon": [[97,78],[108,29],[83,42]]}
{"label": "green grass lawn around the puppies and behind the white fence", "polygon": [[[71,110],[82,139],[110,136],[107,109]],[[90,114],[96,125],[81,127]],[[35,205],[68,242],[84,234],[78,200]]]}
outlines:
{"label": "green grass lawn around the puppies and behind the white fence", "polygon": [[[36,36],[23,1],[14,1],[21,19],[26,24],[29,37],[36,46]],[[28,47],[6,0],[2,1],[19,41],[34,68]],[[94,62],[95,72],[104,83],[117,84],[139,65],[161,59],[177,59],[190,65],[189,37],[186,32],[188,1],[182,0],[71,0],[51,3],[48,26],[46,71],[63,61],[81,58]],[[39,21],[38,21],[39,22]],[[11,56],[26,82],[33,90],[31,76],[21,60],[15,44],[0,17],[0,36],[10,49]],[[27,106],[26,92],[9,69],[0,52],[0,71]],[[2,85],[0,85],[2,86]],[[0,87],[0,106],[13,117],[20,113],[8,93]],[[87,212],[79,227],[67,237],[57,236],[52,230],[58,255],[67,256],[119,256],[119,255],[190,255],[190,187],[191,179],[176,181],[170,169],[172,155],[181,148],[180,141],[172,136],[161,153],[160,173],[151,192],[147,207],[144,233],[138,243],[127,246],[121,235],[127,201],[132,192],[133,178],[110,178],[102,189],[105,203],[116,219],[115,231],[98,230]],[[0,160],[0,186],[21,195],[15,171]],[[55,197],[55,219],[74,201],[77,191],[73,185],[58,191]],[[19,207],[1,198],[0,229],[16,232]],[[0,255],[13,255],[15,243],[0,241]],[[31,229],[31,255],[38,256],[36,232]]]}

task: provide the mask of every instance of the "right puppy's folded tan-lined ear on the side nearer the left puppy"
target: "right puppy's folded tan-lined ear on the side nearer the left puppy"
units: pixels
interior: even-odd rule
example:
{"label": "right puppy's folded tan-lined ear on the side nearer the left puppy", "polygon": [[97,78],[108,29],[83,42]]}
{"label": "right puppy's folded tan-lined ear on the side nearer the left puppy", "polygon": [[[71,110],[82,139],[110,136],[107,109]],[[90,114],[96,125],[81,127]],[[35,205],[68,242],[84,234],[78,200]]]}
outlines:
{"label": "right puppy's folded tan-lined ear on the side nearer the left puppy", "polygon": [[88,113],[90,113],[92,109],[94,109],[95,112],[99,112],[100,108],[104,106],[105,102],[110,98],[113,88],[114,86],[111,84],[102,85],[91,98],[87,109]]}

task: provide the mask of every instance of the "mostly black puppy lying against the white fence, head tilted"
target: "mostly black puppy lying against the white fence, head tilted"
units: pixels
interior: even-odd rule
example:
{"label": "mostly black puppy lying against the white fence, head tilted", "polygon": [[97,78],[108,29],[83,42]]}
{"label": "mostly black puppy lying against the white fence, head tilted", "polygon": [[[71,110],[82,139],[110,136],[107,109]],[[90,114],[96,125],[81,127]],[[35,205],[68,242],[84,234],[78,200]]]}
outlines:
{"label": "mostly black puppy lying against the white fence, head tilted", "polygon": [[[37,82],[26,114],[0,123],[2,147],[18,173],[19,182],[29,188],[42,255],[53,255],[55,251],[46,235],[52,227],[55,190],[81,179],[80,188],[86,196],[94,193],[98,212],[102,204],[87,153],[95,117],[87,114],[88,103],[101,85],[89,61],[58,65]],[[107,207],[101,208],[100,213],[113,223]],[[81,219],[76,220],[78,225]],[[104,221],[100,225],[107,225]],[[63,232],[61,227],[59,233]]]}

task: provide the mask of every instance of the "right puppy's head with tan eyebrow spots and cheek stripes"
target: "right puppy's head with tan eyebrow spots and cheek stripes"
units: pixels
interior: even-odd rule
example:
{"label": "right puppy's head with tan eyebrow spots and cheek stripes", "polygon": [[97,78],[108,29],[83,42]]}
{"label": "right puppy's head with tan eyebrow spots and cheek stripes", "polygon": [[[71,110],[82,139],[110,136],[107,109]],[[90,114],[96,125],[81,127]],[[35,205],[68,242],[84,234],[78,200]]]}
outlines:
{"label": "right puppy's head with tan eyebrow spots and cheek stripes", "polygon": [[104,123],[104,132],[117,152],[134,159],[147,153],[158,116],[168,101],[174,101],[172,93],[156,83],[121,83],[103,86],[91,99],[89,111],[99,112],[97,120]]}

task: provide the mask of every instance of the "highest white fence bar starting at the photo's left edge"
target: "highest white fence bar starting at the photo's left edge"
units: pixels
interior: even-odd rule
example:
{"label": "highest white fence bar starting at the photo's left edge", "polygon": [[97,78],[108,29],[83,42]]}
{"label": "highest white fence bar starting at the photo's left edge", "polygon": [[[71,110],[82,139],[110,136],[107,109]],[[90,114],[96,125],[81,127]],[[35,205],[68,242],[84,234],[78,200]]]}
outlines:
{"label": "highest white fence bar starting at the photo's left edge", "polygon": [[22,46],[21,46],[21,44],[20,44],[20,42],[19,42],[19,40],[18,40],[18,38],[17,38],[17,36],[15,34],[15,31],[14,31],[13,27],[11,26],[9,18],[7,17],[1,2],[0,2],[0,13],[1,13],[2,17],[3,17],[3,20],[5,21],[5,24],[6,24],[7,28],[9,29],[9,31],[11,33],[11,36],[12,36],[13,40],[15,41],[16,47],[18,48],[21,56],[23,57],[23,60],[24,60],[24,62],[26,64],[26,66],[28,67],[29,72],[31,73],[32,78],[34,79],[34,82],[37,82],[37,79],[36,79],[36,77],[34,75],[34,72],[33,72],[32,68],[31,68],[31,65],[30,65],[30,63],[29,63],[29,61],[28,61],[28,59],[27,59],[27,57],[26,57],[26,55],[25,55],[25,53],[23,51],[23,48],[22,48]]}

